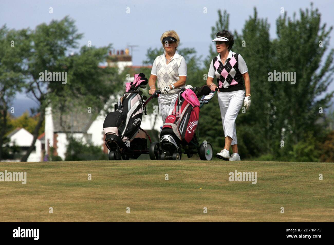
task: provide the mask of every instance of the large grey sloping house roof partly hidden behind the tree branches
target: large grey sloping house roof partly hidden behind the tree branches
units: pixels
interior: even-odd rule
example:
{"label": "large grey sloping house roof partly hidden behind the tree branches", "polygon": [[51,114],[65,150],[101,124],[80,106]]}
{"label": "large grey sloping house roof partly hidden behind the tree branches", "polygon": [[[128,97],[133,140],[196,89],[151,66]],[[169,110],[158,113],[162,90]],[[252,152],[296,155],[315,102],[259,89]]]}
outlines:
{"label": "large grey sloping house roof partly hidden behind the tree branches", "polygon": [[80,108],[66,114],[59,110],[52,109],[53,132],[74,132],[87,133],[97,113],[88,113],[87,108]]}

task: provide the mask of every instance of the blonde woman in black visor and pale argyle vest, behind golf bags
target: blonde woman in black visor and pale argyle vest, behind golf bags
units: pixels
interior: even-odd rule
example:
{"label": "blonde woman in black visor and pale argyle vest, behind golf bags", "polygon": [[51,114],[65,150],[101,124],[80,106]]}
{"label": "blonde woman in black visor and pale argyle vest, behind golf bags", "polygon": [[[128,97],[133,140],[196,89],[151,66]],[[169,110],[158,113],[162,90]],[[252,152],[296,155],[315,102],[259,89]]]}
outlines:
{"label": "blonde woman in black visor and pale argyle vest, behind golf bags", "polygon": [[156,89],[161,90],[158,97],[159,112],[162,121],[165,122],[166,117],[173,110],[178,92],[185,87],[187,64],[177,52],[180,37],[174,30],[164,32],[160,42],[165,51],[155,58],[148,84],[149,94],[153,94]]}

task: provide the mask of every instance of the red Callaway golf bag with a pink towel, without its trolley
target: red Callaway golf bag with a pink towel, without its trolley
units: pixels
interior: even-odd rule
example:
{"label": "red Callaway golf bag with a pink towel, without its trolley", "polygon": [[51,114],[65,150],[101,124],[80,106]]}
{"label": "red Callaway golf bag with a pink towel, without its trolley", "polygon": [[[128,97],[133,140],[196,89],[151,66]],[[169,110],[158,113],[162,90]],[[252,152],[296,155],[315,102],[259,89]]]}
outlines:
{"label": "red Callaway golf bag with a pink towel, without its trolley", "polygon": [[175,151],[179,145],[188,145],[195,135],[200,103],[194,89],[182,89],[174,109],[162,127],[160,144],[165,150]]}

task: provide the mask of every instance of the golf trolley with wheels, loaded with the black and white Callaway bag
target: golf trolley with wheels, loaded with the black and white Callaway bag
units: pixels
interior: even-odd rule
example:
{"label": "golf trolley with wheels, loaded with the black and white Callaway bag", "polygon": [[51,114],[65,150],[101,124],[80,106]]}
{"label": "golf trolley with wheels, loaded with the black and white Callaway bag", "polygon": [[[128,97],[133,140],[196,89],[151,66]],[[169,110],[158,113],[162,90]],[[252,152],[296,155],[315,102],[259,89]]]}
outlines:
{"label": "golf trolley with wheels, loaded with the black and white Callaway bag", "polygon": [[[141,154],[149,154],[147,139],[151,137],[140,127],[146,105],[158,97],[158,91],[147,98],[139,88],[146,88],[147,78],[143,73],[136,74],[133,82],[126,83],[126,92],[115,104],[115,111],[110,112],[104,123],[106,134],[104,144],[109,149],[109,160],[137,159]],[[140,132],[141,137],[136,137]],[[144,136],[144,137],[143,137]]]}

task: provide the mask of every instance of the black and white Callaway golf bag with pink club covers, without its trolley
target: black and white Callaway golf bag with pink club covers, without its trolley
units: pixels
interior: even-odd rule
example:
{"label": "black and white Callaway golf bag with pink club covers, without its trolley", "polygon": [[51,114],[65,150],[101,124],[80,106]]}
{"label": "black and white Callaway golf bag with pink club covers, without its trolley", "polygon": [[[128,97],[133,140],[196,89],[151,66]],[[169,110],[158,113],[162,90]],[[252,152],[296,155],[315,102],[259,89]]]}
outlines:
{"label": "black and white Callaway golf bag with pink club covers, without its trolley", "polygon": [[[143,73],[136,74],[133,82],[126,83],[126,92],[115,104],[115,111],[107,115],[103,123],[103,131],[106,134],[105,144],[110,151],[116,151],[117,148],[122,149],[128,140],[131,141],[136,136],[142,121],[143,111],[146,115],[143,101],[147,99],[146,96],[142,97],[142,91],[138,89],[146,87],[146,84],[145,75]],[[147,140],[142,140],[146,141],[146,144],[133,140],[133,146],[135,147],[137,142],[139,146],[145,145],[147,148]]]}

